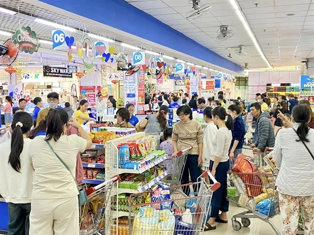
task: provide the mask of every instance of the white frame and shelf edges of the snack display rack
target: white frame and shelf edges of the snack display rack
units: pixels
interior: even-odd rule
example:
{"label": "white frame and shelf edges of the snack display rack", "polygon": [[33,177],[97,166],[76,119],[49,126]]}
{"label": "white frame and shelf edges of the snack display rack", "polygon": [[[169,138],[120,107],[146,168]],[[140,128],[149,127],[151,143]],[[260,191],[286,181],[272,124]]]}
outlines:
{"label": "white frame and shelf edges of the snack display rack", "polygon": [[[151,135],[149,138],[156,141],[157,143],[160,139],[160,135]],[[124,173],[143,174],[144,172],[151,169],[152,167],[157,166],[158,164],[161,164],[163,161],[165,161],[168,158],[167,155],[159,156],[159,158],[157,158],[156,160],[138,169],[119,168],[119,146],[121,144],[131,143],[131,142],[140,143],[140,142],[143,142],[144,140],[145,140],[145,133],[139,132],[139,133],[124,136],[124,137],[121,137],[112,141],[107,141],[105,143],[105,180],[109,180],[115,175],[121,176]],[[158,147],[157,144],[156,146]],[[132,148],[131,145],[129,147],[130,147],[130,152],[131,152],[131,148]],[[147,159],[149,159],[150,157],[151,155],[148,155]],[[105,210],[105,234],[117,235],[119,217],[129,216],[129,206],[127,208],[126,203],[124,203],[126,210],[119,211],[119,208],[120,208],[119,195],[123,195],[124,193],[134,194],[134,193],[144,192],[147,189],[151,188],[156,183],[158,183],[160,180],[165,178],[168,174],[169,172],[165,170],[154,179],[149,180],[146,184],[144,183],[140,184],[140,186],[137,189],[119,188],[119,184],[121,186],[123,182],[121,180],[116,183],[113,183],[109,198],[107,200],[106,210]],[[120,202],[121,202],[121,198],[120,198]]]}

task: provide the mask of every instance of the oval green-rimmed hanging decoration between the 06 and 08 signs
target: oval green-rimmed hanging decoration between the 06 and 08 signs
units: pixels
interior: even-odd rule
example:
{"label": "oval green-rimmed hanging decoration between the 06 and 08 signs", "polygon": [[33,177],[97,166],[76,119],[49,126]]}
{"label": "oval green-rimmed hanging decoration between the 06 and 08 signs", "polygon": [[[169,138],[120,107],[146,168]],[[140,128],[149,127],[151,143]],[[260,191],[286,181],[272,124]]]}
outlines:
{"label": "oval green-rimmed hanging decoration between the 06 and 08 signs", "polygon": [[95,65],[95,45],[93,40],[87,34],[84,34],[80,44],[83,48],[85,48],[82,55],[82,61],[85,68],[93,69]]}

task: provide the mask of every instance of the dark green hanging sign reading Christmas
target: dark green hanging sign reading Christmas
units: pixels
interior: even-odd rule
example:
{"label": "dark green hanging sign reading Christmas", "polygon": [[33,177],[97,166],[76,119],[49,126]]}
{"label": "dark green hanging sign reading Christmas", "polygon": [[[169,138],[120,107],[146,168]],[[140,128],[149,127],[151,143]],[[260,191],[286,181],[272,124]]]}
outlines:
{"label": "dark green hanging sign reading Christmas", "polygon": [[32,31],[29,26],[23,26],[16,30],[11,39],[20,52],[33,54],[40,47],[39,38],[37,38],[35,31]]}

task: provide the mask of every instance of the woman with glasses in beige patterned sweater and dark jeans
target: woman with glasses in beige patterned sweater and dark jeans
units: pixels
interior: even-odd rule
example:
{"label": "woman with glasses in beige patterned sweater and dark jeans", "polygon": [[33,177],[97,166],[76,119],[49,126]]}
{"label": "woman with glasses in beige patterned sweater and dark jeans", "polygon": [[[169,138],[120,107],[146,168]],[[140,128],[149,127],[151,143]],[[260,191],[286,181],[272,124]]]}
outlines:
{"label": "woman with glasses in beige patterned sweater and dark jeans", "polygon": [[[191,176],[191,181],[194,183],[197,182],[197,178],[201,175],[200,167],[203,162],[203,130],[201,124],[193,120],[190,107],[181,106],[177,109],[177,115],[180,121],[175,124],[172,131],[172,145],[175,151],[173,156],[180,150],[193,146],[186,157],[181,184],[189,183],[189,175]],[[189,187],[183,187],[185,195],[189,195],[189,191]],[[194,192],[197,192],[197,188],[195,187]]]}

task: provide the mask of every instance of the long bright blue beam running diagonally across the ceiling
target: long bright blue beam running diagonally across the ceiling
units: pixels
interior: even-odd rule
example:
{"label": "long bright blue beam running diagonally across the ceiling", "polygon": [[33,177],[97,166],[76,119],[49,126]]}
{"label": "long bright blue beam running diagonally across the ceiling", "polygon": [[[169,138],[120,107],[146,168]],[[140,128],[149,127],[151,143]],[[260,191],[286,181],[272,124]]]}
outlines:
{"label": "long bright blue beam running diagonally across the ceiling", "polygon": [[[244,69],[241,66],[200,45],[193,39],[185,36],[183,33],[160,22],[146,12],[132,6],[125,0],[79,0],[79,4],[73,4],[73,1],[65,0],[39,1],[113,28],[117,28],[137,37],[157,43],[161,46],[180,51],[186,55],[206,61],[212,65],[216,65],[239,74],[244,73]],[[104,9],[107,9],[105,13]],[[127,16],[127,18],[121,16]],[[140,25],[142,22],[145,22],[145,25],[143,26],[145,27],[145,30],[143,30],[143,27],[141,26],[130,26]],[[158,32],[162,32],[162,37],[156,36]]]}

